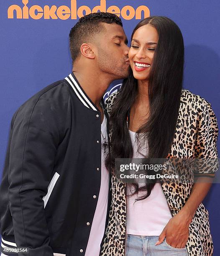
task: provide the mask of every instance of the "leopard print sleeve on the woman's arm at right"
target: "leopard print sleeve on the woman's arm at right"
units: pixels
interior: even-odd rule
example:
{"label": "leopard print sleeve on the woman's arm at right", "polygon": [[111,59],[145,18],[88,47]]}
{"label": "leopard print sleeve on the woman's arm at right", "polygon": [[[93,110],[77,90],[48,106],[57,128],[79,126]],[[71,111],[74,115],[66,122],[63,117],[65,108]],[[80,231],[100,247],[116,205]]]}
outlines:
{"label": "leopard print sleeve on the woman's arm at right", "polygon": [[211,105],[202,99],[197,117],[194,174],[214,174],[218,169],[218,126]]}

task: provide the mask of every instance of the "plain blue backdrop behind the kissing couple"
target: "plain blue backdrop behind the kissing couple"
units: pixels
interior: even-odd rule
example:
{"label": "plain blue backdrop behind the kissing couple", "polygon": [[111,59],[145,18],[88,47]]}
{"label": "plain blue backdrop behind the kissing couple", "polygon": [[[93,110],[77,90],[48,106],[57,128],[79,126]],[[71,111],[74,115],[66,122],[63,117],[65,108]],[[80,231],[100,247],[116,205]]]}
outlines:
{"label": "plain blue backdrop behind the kissing couple", "polygon": [[[151,15],[167,16],[178,24],[185,43],[184,88],[211,102],[220,120],[220,1],[102,0],[102,8],[105,8],[105,3],[106,10],[116,5],[111,9],[116,13],[122,12],[121,18],[128,38],[139,22],[136,18],[140,18],[140,9],[144,9],[141,18],[144,18],[144,12],[147,15],[149,9]],[[52,5],[58,8],[56,12],[56,7]],[[64,7],[59,8],[61,5]],[[82,5],[84,7],[81,8]],[[79,19],[78,16],[85,14],[82,9],[88,12],[89,8],[92,10],[96,5],[100,5],[100,0],[1,1],[0,175],[13,113],[33,94],[71,72],[69,31]],[[128,5],[131,7],[126,7]],[[138,9],[141,5],[147,8]],[[119,82],[115,81],[111,87]],[[218,141],[218,148],[219,145]],[[210,216],[214,256],[220,255],[219,195],[220,185],[213,184],[204,201]]]}

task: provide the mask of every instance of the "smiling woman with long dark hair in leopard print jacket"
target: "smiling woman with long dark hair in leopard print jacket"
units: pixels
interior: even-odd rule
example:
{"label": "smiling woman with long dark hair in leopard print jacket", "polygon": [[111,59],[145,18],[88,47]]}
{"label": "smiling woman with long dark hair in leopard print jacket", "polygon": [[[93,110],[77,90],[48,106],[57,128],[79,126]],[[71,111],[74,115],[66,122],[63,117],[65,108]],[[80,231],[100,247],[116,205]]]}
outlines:
{"label": "smiling woman with long dark hair in leopard print jacket", "polygon": [[[155,179],[130,185],[115,176],[116,158],[217,159],[215,114],[206,100],[182,89],[184,44],[178,26],[166,17],[149,17],[131,39],[128,79],[107,99],[112,203],[101,255],[211,256],[208,212],[201,202],[216,165],[195,173],[188,166],[188,182],[182,183]],[[207,182],[199,183],[205,177]]]}

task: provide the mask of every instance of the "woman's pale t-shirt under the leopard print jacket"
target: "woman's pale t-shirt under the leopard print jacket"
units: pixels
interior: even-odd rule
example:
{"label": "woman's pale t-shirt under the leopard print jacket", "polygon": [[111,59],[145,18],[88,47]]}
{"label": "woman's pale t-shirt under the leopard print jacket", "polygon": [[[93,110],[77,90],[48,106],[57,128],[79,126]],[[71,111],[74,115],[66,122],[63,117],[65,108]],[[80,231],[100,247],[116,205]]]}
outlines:
{"label": "woman's pale t-shirt under the leopard print jacket", "polygon": [[[129,131],[131,142],[133,145],[133,158],[143,158],[137,152],[136,133]],[[145,148],[144,155],[148,152]],[[133,187],[132,187],[133,188]],[[131,191],[133,189],[131,188]],[[130,189],[128,189],[128,195]],[[128,227],[127,233],[137,236],[159,236],[171,219],[166,199],[161,190],[159,183],[156,183],[151,191],[151,195],[144,200],[135,202],[135,199],[146,192],[139,192],[138,195],[128,197]]]}

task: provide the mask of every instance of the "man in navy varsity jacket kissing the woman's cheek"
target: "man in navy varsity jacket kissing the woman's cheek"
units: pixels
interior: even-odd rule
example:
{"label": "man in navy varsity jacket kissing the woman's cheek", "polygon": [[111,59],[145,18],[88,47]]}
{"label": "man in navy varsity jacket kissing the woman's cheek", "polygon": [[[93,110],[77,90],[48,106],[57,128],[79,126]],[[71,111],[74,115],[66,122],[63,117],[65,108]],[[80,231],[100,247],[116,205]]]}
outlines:
{"label": "man in navy varsity jacket kissing the woman's cheek", "polygon": [[11,123],[0,221],[3,249],[28,248],[19,256],[100,252],[109,189],[102,96],[127,77],[129,49],[110,13],[80,18],[69,36],[72,74],[31,97]]}

